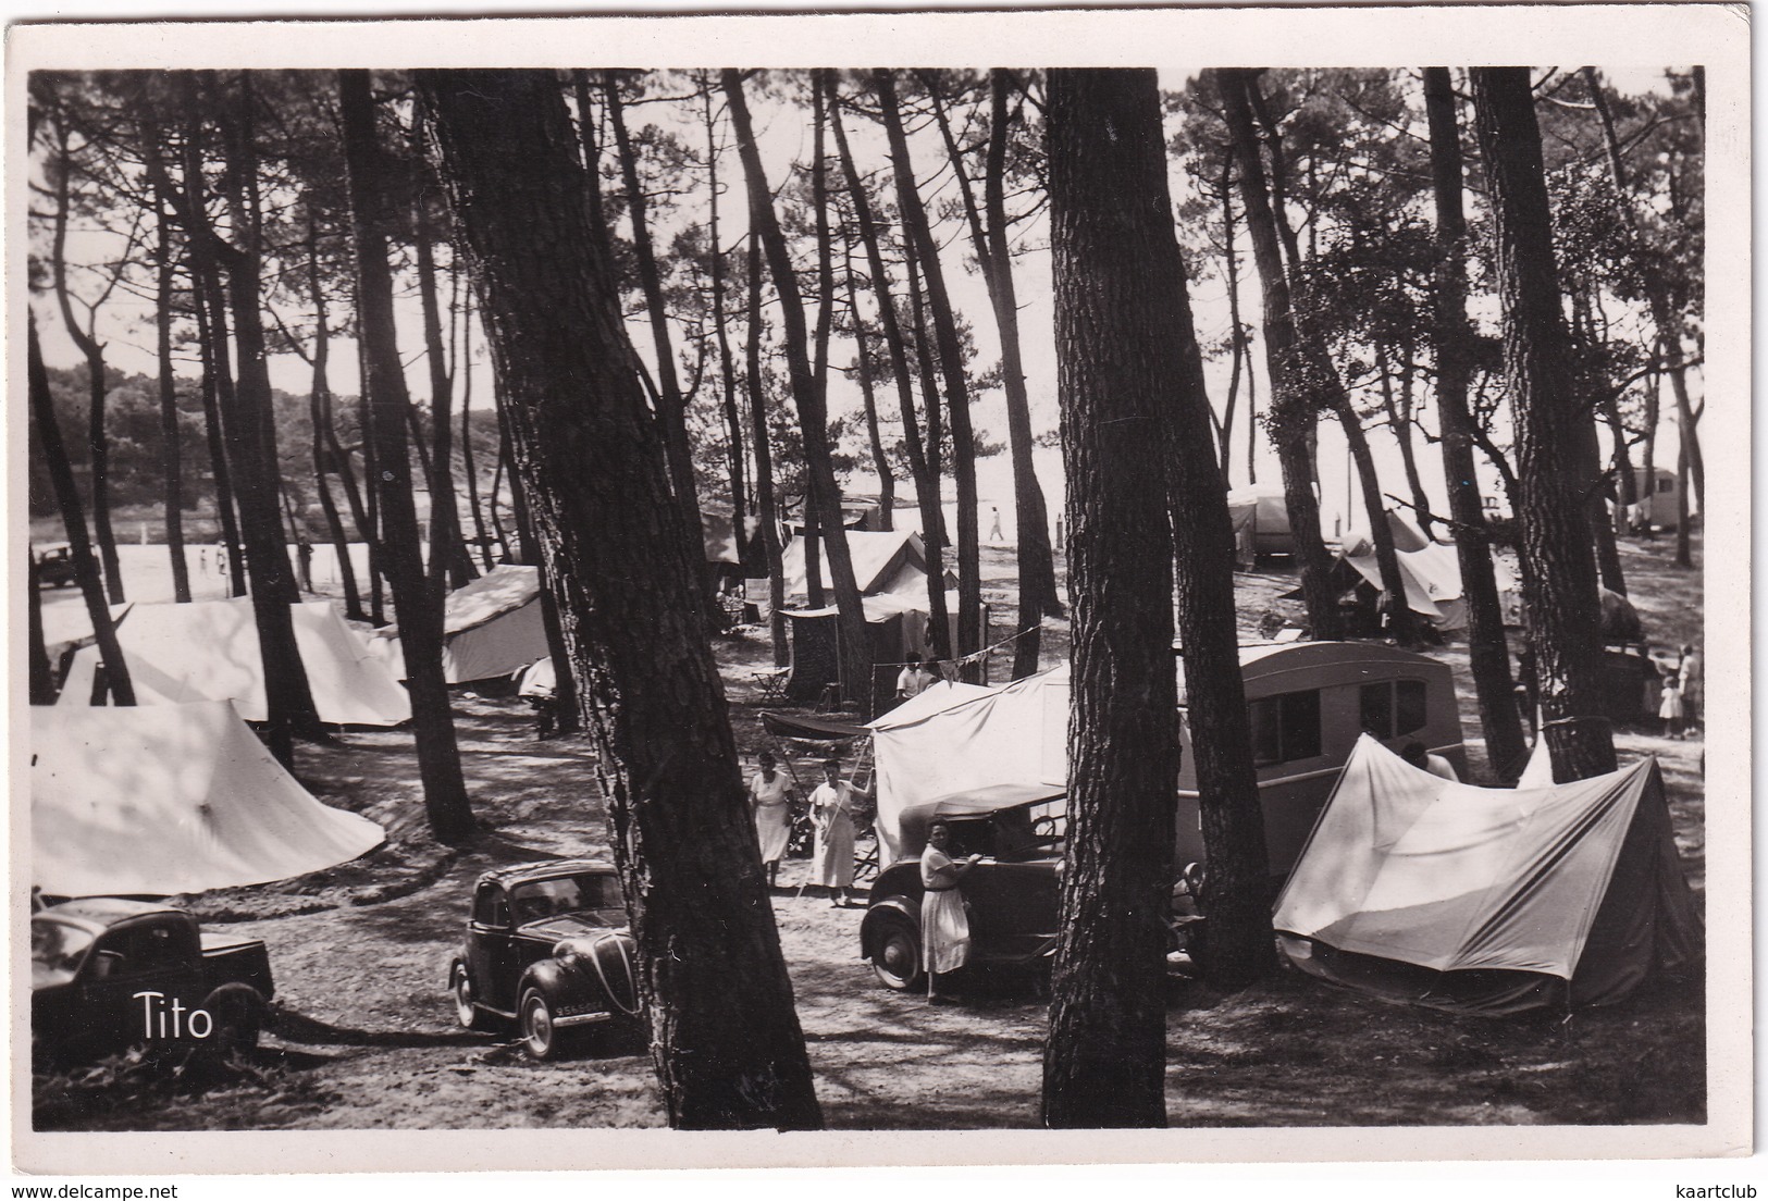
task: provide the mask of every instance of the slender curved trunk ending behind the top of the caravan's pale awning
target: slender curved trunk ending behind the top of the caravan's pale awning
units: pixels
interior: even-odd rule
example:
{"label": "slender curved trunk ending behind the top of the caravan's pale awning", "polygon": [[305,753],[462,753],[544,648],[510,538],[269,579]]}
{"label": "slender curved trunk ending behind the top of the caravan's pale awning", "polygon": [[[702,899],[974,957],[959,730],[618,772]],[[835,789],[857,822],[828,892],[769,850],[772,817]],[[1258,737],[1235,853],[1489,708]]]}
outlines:
{"label": "slender curved trunk ending behind the top of the caravan's pale awning", "polygon": [[[916,262],[926,283],[926,306],[934,317],[934,338],[939,347],[939,366],[944,377],[946,405],[951,416],[951,478],[958,493],[958,639],[955,653],[965,656],[981,649],[981,531],[976,525],[976,439],[971,433],[969,382],[964,379],[964,348],[958,343],[958,325],[946,295],[946,274],[939,265],[939,244],[926,219],[926,207],[914,182],[914,163],[909,157],[909,138],[902,127],[896,106],[896,80],[889,71],[873,71],[872,87],[877,92],[889,138],[891,172],[896,175],[896,207],[907,241],[916,246]],[[965,665],[965,676],[976,670]]]}

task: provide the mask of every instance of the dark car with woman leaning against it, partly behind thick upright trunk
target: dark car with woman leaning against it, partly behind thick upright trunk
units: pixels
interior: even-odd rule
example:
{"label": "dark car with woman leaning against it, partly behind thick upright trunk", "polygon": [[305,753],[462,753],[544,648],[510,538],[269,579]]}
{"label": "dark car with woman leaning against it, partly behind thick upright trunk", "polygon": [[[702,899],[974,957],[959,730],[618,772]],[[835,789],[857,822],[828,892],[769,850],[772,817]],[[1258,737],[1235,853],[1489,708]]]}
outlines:
{"label": "dark car with woman leaning against it, partly behind thick upright trunk", "polygon": [[1061,909],[1063,789],[1001,785],[916,805],[902,814],[902,858],[879,874],[859,948],[886,989],[921,983],[921,851],[934,819],[951,828],[953,860],[981,854],[964,877],[971,962],[1033,964],[1055,948]]}

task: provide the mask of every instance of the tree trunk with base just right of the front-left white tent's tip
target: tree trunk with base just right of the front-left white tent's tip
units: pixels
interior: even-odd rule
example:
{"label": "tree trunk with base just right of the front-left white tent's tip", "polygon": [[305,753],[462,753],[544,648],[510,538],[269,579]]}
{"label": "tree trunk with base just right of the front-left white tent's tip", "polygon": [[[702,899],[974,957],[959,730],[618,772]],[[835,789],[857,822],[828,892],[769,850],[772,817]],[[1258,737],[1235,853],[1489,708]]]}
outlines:
{"label": "tree trunk with base just right of the front-left white tent's tip", "polygon": [[[373,439],[380,470],[382,552],[392,608],[400,616],[405,683],[412,693],[412,731],[417,775],[424,787],[430,830],[442,842],[467,842],[474,833],[472,803],[454,743],[454,713],[442,670],[442,580],[424,575],[412,504],[412,460],[405,446],[405,364],[392,320],[392,271],[387,265],[387,230],[392,205],[387,168],[375,129],[375,94],[368,71],[338,73],[338,108],[343,124],[345,164],[350,175],[350,226],[355,235],[357,324],[368,357],[368,387],[375,405]],[[431,364],[435,366],[435,364]],[[444,423],[446,425],[446,423]],[[431,520],[435,520],[431,509]]]}

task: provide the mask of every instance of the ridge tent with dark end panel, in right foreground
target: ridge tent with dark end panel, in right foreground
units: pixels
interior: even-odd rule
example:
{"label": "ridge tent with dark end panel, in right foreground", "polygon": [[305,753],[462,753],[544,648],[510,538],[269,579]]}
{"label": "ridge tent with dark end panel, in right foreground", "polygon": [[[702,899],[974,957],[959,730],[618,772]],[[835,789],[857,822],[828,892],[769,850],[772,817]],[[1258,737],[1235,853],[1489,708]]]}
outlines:
{"label": "ridge tent with dark end panel, in right foreground", "polygon": [[1473,1014],[1605,1005],[1701,953],[1655,759],[1478,789],[1368,738],[1273,923],[1305,971]]}

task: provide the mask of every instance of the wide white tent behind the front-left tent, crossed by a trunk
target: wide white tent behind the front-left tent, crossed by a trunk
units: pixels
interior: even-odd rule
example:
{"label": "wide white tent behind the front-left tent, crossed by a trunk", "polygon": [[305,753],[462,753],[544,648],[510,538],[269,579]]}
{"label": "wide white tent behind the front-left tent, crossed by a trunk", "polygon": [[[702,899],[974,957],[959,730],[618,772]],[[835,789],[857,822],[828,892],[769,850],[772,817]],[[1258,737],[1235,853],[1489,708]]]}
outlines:
{"label": "wide white tent behind the front-left tent, crossed by a trunk", "polygon": [[[290,605],[295,649],[308,672],[313,706],[331,725],[400,725],[412,702],[387,665],[345,624],[331,601]],[[271,716],[263,695],[263,656],[251,600],[239,596],[189,605],[129,605],[117,610],[117,642],[129,663],[134,699],[143,706],[232,700],[248,722]],[[60,708],[92,702],[95,646],[74,653]]]}

